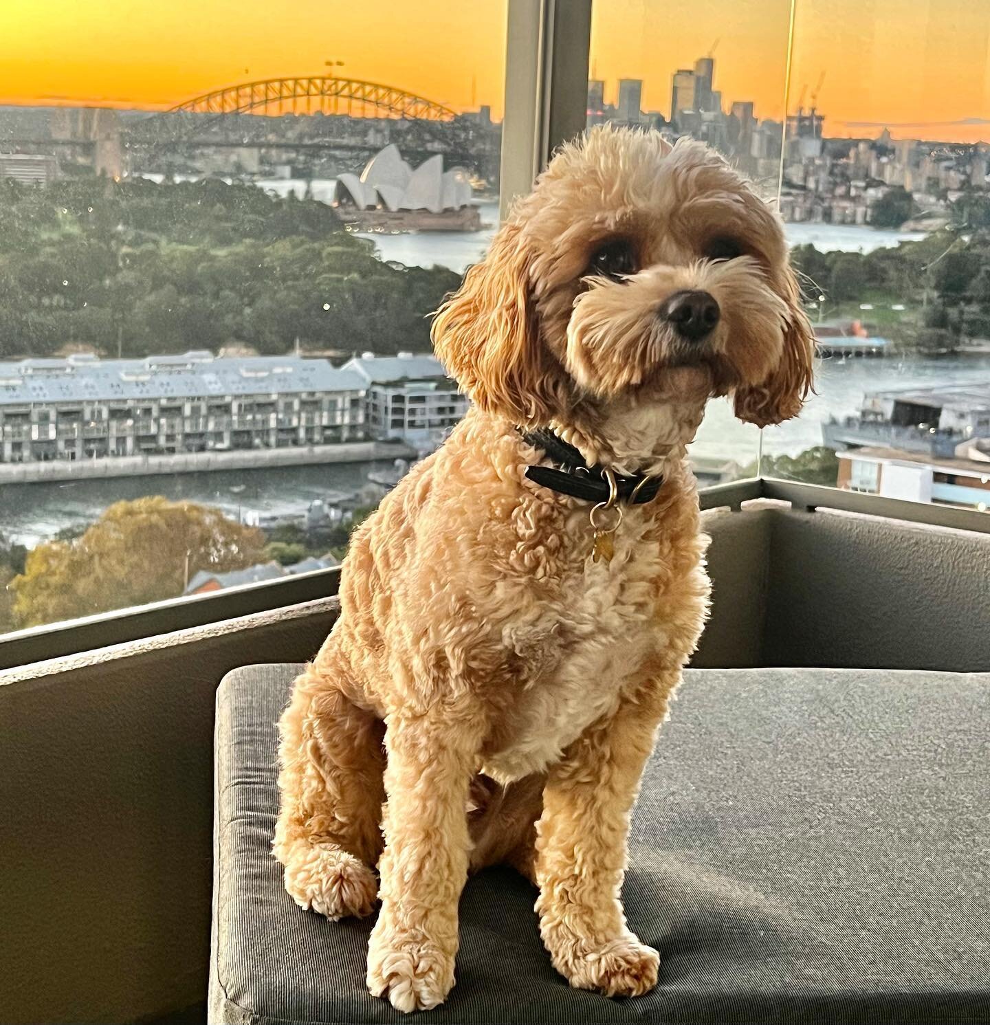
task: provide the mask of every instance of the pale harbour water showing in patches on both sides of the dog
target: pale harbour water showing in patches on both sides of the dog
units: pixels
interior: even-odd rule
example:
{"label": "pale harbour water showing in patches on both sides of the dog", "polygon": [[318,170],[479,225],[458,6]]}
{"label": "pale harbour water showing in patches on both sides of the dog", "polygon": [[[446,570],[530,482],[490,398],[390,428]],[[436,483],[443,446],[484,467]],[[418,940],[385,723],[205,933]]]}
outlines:
{"label": "pale harbour water showing in patches on both sides of the dog", "polygon": [[[262,183],[285,194],[302,194],[305,182],[277,179]],[[329,198],[332,182],[311,183],[317,199]],[[448,266],[462,272],[480,259],[498,219],[494,203],[482,205],[486,228],[478,233],[430,232],[370,236],[382,259],[406,264]],[[917,236],[836,224],[788,224],[792,245],[814,242],[823,250],[867,252]],[[829,416],[856,412],[867,391],[990,380],[990,355],[952,359],[831,359],[822,362],[813,396],[798,419],[768,428],[764,452],[796,455],[822,442],[821,423]],[[734,460],[741,466],[756,457],[758,430],[736,420],[725,401],[713,402],[692,447],[699,456]],[[5,485],[0,495],[0,534],[32,545],[59,530],[96,519],[121,499],[161,494],[216,505],[237,518],[299,512],[330,491],[357,491],[380,463],[286,466],[254,470],[182,474],[46,484]]]}

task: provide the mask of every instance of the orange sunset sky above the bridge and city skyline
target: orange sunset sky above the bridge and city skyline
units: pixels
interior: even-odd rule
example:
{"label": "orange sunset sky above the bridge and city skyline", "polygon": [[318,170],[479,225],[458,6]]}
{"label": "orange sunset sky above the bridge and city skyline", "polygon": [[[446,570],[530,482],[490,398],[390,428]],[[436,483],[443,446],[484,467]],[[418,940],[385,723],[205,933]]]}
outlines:
{"label": "orange sunset sky above the bridge and city skyline", "polygon": [[[724,105],[783,108],[790,0],[595,0],[591,64],[670,76],[714,46]],[[0,104],[162,109],[237,82],[325,70],[501,116],[504,0],[0,0]],[[988,0],[796,0],[790,108],[824,73],[827,135],[990,139]]]}

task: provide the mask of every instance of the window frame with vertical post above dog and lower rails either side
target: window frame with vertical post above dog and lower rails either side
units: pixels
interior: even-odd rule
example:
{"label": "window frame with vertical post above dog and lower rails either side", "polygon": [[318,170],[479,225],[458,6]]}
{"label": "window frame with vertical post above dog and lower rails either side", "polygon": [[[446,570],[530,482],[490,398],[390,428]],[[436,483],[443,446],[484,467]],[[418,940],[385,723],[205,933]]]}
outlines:
{"label": "window frame with vertical post above dog and lower rails either side", "polygon": [[[527,193],[553,150],[584,131],[592,0],[508,0],[505,117],[500,158],[500,212]],[[990,533],[990,515],[976,509],[885,498],[838,488],[756,477],[699,491],[702,509],[778,499],[795,507],[840,509],[909,523]],[[0,671],[207,626],[336,596],[340,569],[169,599],[30,627],[0,636]]]}

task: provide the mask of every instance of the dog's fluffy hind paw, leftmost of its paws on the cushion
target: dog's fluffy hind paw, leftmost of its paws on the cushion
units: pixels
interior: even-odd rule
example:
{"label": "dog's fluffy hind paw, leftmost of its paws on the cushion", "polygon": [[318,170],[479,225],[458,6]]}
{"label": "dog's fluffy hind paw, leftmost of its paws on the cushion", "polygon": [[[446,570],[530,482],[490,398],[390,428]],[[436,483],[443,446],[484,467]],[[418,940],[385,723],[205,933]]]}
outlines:
{"label": "dog's fluffy hind paw, leftmost of its paws on the cushion", "polygon": [[330,845],[300,845],[286,863],[285,889],[303,910],[318,911],[331,921],[370,914],[378,894],[375,873],[353,854]]}

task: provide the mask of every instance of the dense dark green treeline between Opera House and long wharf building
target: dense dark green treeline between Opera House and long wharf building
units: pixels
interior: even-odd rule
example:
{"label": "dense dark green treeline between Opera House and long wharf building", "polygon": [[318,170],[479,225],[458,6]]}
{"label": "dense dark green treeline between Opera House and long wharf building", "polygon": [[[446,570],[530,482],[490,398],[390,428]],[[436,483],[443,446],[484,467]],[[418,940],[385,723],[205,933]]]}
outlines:
{"label": "dense dark green treeline between Opera House and long wharf building", "polygon": [[323,203],[219,180],[0,181],[0,358],[429,347],[459,276],[375,258]]}

